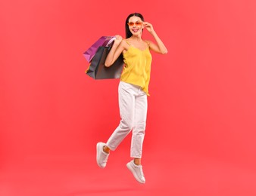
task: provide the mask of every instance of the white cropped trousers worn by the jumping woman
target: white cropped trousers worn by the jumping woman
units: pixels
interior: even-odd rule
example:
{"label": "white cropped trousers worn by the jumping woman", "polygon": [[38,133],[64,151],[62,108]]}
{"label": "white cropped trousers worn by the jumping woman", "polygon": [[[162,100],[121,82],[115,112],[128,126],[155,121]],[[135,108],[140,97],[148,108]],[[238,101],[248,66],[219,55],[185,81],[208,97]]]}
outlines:
{"label": "white cropped trousers worn by the jumping woman", "polygon": [[141,87],[120,81],[118,86],[120,124],[108,139],[107,146],[114,151],[123,139],[133,130],[130,156],[142,158],[142,144],[148,110],[146,93]]}

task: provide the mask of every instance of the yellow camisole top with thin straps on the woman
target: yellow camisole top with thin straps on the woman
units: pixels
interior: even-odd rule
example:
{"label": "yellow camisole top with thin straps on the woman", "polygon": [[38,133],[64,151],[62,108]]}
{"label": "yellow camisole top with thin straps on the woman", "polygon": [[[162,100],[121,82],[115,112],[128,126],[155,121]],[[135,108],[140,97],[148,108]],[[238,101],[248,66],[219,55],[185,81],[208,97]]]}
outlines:
{"label": "yellow camisole top with thin straps on the woman", "polygon": [[123,54],[125,66],[123,67],[120,81],[142,87],[142,90],[149,96],[148,84],[152,60],[149,47],[142,51],[137,47],[133,47],[128,41],[126,42],[130,47]]}

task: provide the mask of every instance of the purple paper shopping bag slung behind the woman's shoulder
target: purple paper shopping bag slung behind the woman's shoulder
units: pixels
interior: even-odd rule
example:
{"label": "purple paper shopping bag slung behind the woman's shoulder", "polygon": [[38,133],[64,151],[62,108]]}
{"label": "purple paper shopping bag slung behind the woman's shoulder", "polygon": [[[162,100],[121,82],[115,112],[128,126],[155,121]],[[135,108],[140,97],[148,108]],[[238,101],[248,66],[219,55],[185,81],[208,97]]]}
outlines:
{"label": "purple paper shopping bag slung behind the woman's shoulder", "polygon": [[92,58],[95,56],[98,47],[107,46],[108,44],[111,44],[114,39],[114,36],[101,36],[101,38],[99,38],[87,51],[83,53],[83,56],[90,63]]}

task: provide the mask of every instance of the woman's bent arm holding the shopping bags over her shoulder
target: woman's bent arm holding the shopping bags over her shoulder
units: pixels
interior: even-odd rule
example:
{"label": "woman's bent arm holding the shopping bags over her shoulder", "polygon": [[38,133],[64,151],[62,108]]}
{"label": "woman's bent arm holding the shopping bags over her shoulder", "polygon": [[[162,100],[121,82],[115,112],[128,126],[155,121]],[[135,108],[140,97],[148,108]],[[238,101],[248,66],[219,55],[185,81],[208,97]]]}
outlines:
{"label": "woman's bent arm holding the shopping bags over her shoulder", "polygon": [[114,40],[114,44],[111,47],[111,51],[108,53],[108,57],[105,60],[105,66],[107,67],[113,65],[124,49],[122,37],[120,35],[116,35],[116,37],[117,38]]}

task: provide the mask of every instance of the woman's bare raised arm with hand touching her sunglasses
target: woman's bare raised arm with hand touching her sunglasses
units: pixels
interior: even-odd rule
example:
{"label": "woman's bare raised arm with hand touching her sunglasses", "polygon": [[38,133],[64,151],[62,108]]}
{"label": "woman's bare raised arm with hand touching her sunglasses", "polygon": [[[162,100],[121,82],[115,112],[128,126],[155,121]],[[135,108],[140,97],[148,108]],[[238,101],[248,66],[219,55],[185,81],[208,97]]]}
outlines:
{"label": "woman's bare raised arm with hand touching her sunglasses", "polygon": [[149,47],[152,51],[155,51],[159,54],[167,54],[167,48],[165,47],[163,41],[158,37],[158,34],[153,29],[151,23],[144,22],[144,28],[148,30],[148,32],[155,38],[157,44],[154,44],[152,41],[149,41]]}

